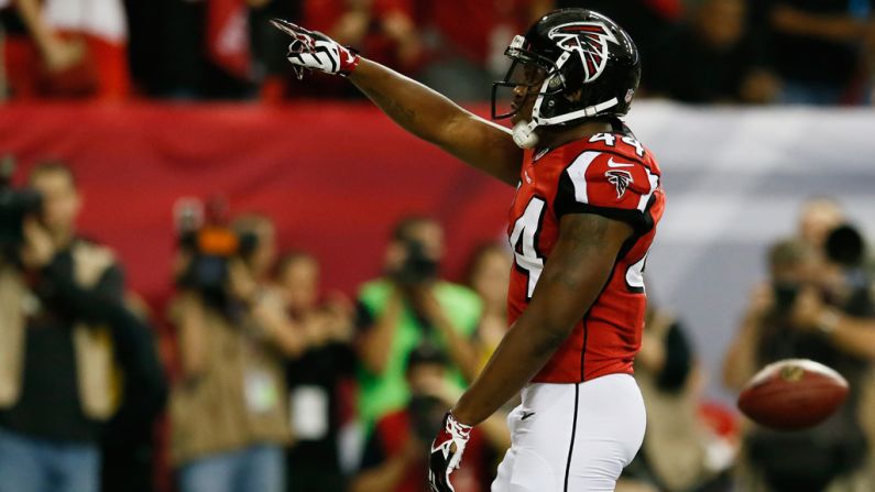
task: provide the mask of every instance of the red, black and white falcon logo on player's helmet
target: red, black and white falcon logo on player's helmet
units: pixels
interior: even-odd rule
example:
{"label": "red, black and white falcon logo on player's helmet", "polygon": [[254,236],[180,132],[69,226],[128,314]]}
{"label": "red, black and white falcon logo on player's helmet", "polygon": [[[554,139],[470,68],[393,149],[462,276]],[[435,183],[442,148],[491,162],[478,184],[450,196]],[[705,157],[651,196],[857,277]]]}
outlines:
{"label": "red, black and white falcon logo on player's helmet", "polygon": [[573,22],[557,25],[547,34],[556,44],[577,53],[583,64],[584,83],[599,78],[608,64],[608,43],[620,44],[616,36],[601,22]]}

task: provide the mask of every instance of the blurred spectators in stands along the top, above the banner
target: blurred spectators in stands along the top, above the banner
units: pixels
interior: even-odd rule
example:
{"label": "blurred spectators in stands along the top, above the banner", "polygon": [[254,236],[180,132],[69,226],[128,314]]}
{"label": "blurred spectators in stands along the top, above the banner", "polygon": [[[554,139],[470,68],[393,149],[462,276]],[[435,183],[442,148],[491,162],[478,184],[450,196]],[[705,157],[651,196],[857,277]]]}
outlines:
{"label": "blurred spectators in stands along the top, above the banner", "polygon": [[642,97],[691,103],[871,105],[872,0],[0,0],[7,99],[360,97],[343,80],[303,84],[295,20],[446,94],[478,101],[504,48],[543,13],[586,7],[632,34]]}

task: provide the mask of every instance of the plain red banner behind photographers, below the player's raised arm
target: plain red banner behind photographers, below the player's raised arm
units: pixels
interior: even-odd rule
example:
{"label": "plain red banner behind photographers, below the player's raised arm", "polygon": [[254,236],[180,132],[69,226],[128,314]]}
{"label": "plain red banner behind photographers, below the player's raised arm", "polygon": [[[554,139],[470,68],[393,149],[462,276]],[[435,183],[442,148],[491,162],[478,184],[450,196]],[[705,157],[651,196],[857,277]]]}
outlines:
{"label": "plain red banner behind photographers, below the player's raised arm", "polygon": [[222,193],[272,217],[281,245],[316,253],[328,288],[380,273],[390,228],[422,212],[447,229],[446,272],[503,233],[513,189],[404,133],[368,105],[0,108],[0,154],[68,162],[85,194],[81,230],[114,248],[129,284],[171,288],[173,205]]}

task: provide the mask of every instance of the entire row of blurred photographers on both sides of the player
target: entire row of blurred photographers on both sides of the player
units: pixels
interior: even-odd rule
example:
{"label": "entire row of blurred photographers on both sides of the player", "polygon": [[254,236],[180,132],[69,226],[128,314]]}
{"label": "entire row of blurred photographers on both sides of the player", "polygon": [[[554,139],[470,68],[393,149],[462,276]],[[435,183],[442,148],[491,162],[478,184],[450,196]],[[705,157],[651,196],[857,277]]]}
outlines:
{"label": "entire row of blurred photographers on both sides of the player", "polygon": [[[387,231],[381,274],[349,298],[325,292],[313,254],[280,251],[270,217],[181,199],[175,295],[153,310],[77,231],[69,167],[37,164],[26,188],[0,193],[0,492],[427,491],[427,444],[507,328],[508,248],[475,249],[463,284],[449,282],[429,217]],[[873,490],[863,236],[816,198],[766,260],[726,387],[810,358],[851,382],[849,403],[806,431],[740,419],[703,397],[689,328],[652,302],[635,362],[647,435],[617,491]],[[489,490],[508,411],[472,434],[457,491]]]}

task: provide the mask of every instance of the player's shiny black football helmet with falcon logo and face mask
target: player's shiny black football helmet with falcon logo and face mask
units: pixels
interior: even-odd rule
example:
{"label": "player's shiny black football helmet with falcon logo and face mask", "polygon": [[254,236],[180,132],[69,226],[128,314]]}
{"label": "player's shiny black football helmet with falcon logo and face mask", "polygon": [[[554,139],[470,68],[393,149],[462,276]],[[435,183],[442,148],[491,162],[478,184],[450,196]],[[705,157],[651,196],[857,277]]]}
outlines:
{"label": "player's shiny black football helmet with falcon logo and face mask", "polygon": [[526,123],[529,134],[536,127],[621,117],[632,106],[641,79],[641,56],[632,37],[611,19],[587,9],[544,15],[525,36],[515,36],[504,54],[513,63],[504,80],[492,85],[492,118],[510,118],[519,109],[499,113],[500,88],[528,86],[537,94]]}

